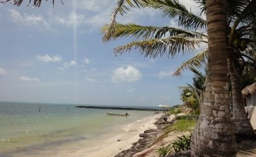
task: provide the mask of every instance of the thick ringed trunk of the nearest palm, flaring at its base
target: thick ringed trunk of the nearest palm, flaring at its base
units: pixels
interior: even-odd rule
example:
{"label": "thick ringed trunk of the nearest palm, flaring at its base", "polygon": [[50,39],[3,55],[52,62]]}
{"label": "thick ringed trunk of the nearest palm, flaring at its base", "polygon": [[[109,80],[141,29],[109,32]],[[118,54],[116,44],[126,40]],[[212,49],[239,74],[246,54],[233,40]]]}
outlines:
{"label": "thick ringed trunk of the nearest palm, flaring at its base", "polygon": [[206,93],[191,137],[191,156],[235,156],[226,50],[226,0],[207,0],[209,61]]}

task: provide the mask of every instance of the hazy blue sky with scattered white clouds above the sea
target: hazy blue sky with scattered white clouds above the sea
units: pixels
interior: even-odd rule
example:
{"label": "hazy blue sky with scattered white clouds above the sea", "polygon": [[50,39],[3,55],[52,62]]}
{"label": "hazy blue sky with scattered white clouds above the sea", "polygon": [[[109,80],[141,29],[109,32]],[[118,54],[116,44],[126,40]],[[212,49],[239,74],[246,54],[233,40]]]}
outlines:
{"label": "hazy blue sky with scattered white clouds above the sea", "polygon": [[[177,67],[195,53],[174,59],[144,58],[136,50],[114,56],[132,39],[102,42],[100,29],[110,21],[113,0],[42,1],[41,7],[0,4],[0,101],[60,104],[182,104],[178,86],[193,74]],[[199,15],[193,0],[180,0]],[[177,26],[154,9],[133,9],[121,23]]]}

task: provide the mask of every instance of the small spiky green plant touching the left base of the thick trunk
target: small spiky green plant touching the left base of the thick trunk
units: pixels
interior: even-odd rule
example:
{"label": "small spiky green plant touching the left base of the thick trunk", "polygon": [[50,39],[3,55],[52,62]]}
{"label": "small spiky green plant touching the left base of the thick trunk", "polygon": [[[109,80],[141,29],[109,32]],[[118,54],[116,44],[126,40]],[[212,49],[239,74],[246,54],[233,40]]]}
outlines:
{"label": "small spiky green plant touching the left base of the thick trunk", "polygon": [[178,137],[177,140],[174,140],[174,142],[172,142],[172,147],[174,147],[175,153],[183,150],[190,150],[190,139],[191,139],[191,135],[190,136],[183,135],[181,137]]}

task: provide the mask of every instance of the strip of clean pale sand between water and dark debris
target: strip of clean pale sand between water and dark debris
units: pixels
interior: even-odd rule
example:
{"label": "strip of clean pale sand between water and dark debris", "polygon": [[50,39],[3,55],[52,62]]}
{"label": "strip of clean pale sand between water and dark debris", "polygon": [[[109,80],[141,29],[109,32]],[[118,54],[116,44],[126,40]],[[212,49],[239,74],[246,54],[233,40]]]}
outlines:
{"label": "strip of clean pale sand between water and dark debris", "polygon": [[65,151],[61,152],[57,156],[66,157],[107,157],[114,156],[123,150],[127,150],[132,147],[132,144],[137,142],[145,130],[156,129],[156,121],[162,116],[162,113],[158,113],[151,117],[137,120],[134,123],[128,124],[122,128],[124,133],[118,134],[110,139],[103,139],[97,147],[84,148],[78,151]]}

